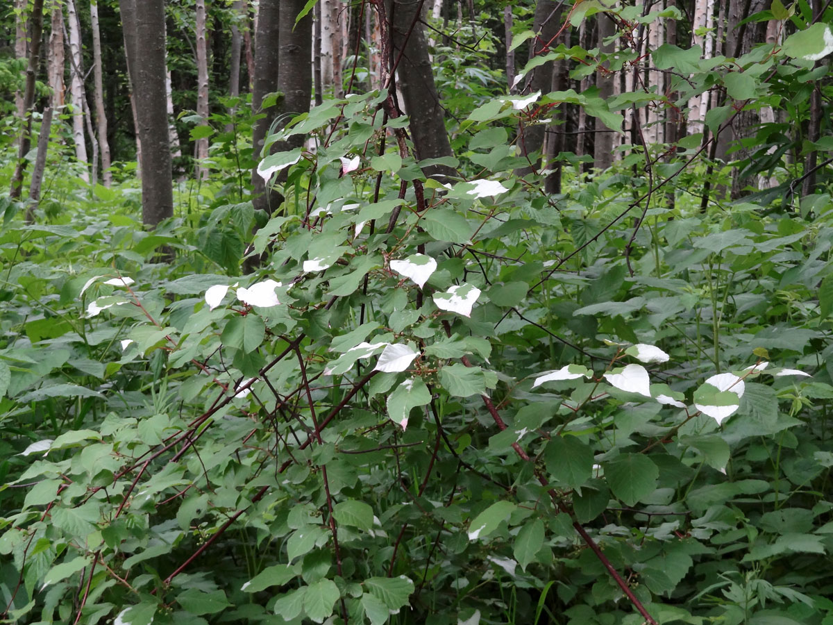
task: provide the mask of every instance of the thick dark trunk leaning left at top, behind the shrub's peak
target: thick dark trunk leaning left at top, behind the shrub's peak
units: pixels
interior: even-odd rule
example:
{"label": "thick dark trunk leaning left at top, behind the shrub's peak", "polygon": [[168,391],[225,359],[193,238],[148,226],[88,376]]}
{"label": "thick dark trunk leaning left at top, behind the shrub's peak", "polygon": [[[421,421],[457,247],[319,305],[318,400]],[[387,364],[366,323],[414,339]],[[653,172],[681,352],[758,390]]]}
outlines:
{"label": "thick dark trunk leaning left at top, behind the shrub's peak", "polygon": [[[397,86],[402,90],[405,111],[410,117],[411,138],[416,159],[451,157],[446,121],[440,96],[436,91],[431,60],[422,23],[417,10],[421,2],[392,0],[388,9],[391,20],[391,62],[399,61]],[[447,165],[431,165],[422,169],[426,177],[446,178],[456,175]]]}

